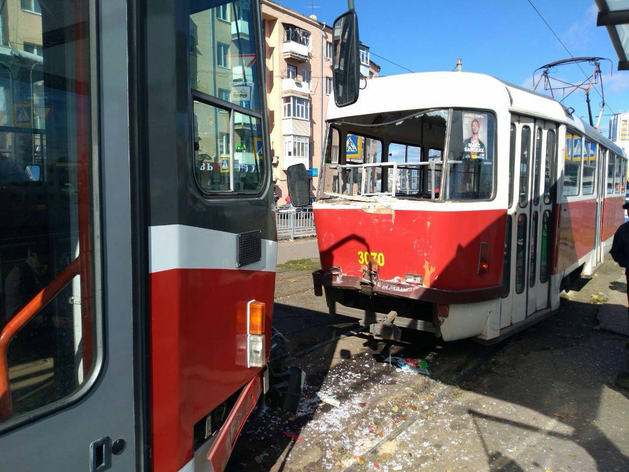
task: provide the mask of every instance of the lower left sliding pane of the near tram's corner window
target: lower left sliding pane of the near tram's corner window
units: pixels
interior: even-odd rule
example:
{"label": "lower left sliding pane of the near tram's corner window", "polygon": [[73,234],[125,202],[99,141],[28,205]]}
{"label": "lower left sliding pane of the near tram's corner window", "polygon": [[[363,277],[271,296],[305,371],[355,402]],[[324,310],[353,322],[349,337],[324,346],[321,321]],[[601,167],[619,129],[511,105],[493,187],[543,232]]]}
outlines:
{"label": "lower left sliding pane of the near tram's corner window", "polygon": [[193,111],[194,172],[199,186],[206,192],[230,191],[232,168],[230,115],[220,113],[223,109],[218,106],[196,100]]}

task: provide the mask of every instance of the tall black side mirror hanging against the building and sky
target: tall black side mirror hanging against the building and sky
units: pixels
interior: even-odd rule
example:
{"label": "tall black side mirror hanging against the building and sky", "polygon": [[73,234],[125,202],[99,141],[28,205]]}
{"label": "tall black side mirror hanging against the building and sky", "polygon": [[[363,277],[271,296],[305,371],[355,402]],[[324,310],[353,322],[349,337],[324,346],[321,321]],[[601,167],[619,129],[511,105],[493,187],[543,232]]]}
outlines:
{"label": "tall black side mirror hanging against the building and sky", "polygon": [[351,105],[360,91],[358,16],[354,10],[334,21],[332,48],[334,102],[337,106]]}

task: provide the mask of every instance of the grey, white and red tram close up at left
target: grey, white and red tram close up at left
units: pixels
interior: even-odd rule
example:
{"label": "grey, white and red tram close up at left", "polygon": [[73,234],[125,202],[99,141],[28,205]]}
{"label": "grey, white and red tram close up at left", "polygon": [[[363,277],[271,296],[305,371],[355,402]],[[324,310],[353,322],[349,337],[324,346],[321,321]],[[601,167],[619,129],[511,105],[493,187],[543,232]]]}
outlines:
{"label": "grey, white and red tram close up at left", "polygon": [[259,1],[0,10],[0,470],[222,471],[269,387]]}

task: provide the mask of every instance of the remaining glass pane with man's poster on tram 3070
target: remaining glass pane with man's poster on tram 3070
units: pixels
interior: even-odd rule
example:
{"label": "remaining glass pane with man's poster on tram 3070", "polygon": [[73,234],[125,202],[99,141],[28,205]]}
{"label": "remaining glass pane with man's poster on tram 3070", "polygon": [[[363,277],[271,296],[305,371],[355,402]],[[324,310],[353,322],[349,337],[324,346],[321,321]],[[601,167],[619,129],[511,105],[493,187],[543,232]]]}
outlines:
{"label": "remaining glass pane with man's poster on tram 3070", "polygon": [[482,111],[452,111],[445,199],[493,197],[494,139],[494,115]]}

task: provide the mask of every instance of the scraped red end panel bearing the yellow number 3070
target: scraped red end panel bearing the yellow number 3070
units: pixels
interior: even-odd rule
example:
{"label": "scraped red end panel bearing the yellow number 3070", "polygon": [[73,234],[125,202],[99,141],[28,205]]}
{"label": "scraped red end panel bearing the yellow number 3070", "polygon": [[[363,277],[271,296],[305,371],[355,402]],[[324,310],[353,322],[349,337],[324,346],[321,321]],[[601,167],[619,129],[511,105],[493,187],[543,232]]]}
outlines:
{"label": "scraped red end panel bearing the yellow number 3070", "polygon": [[[370,213],[315,208],[324,271],[362,276],[359,251],[382,253],[379,278],[424,276],[440,289],[474,289],[502,283],[506,210],[409,211]],[[478,274],[481,242],[489,244],[489,272]],[[426,277],[426,267],[430,281]]]}

